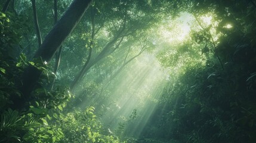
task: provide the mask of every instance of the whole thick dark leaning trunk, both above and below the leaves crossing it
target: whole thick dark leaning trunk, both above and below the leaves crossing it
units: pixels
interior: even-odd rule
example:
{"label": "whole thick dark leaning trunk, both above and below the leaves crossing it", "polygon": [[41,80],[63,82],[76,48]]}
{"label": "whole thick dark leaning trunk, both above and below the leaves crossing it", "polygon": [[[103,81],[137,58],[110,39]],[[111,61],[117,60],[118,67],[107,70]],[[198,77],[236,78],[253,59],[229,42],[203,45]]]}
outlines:
{"label": "whole thick dark leaning trunk, both above and below the leaves crossing it", "polygon": [[[45,38],[45,41],[39,47],[38,51],[34,55],[34,58],[41,57],[43,61],[50,61],[55,52],[60,48],[64,40],[73,29],[76,27],[76,24],[81,20],[82,15],[89,7],[92,0],[75,0],[70,5],[69,9],[60,18],[60,20],[55,24],[53,29],[48,33]],[[35,67],[28,67],[24,71],[22,77],[22,85],[20,91],[23,94],[22,99],[14,99],[13,108],[24,108],[28,107],[25,105],[26,101],[30,101],[30,93],[33,91],[33,88],[36,82],[39,79],[42,71],[39,71]]]}

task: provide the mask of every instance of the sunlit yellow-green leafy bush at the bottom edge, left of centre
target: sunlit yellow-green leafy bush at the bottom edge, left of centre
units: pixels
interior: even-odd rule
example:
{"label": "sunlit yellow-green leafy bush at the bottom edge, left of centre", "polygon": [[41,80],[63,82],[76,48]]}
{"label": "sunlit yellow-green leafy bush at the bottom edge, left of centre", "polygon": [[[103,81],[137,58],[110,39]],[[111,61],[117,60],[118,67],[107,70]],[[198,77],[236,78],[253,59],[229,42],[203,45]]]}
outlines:
{"label": "sunlit yellow-green leafy bush at the bottom edge, left of centre", "polygon": [[103,129],[94,110],[94,107],[88,107],[85,111],[76,110],[66,116],[60,114],[56,126],[66,135],[61,142],[120,142],[113,135],[101,133]]}

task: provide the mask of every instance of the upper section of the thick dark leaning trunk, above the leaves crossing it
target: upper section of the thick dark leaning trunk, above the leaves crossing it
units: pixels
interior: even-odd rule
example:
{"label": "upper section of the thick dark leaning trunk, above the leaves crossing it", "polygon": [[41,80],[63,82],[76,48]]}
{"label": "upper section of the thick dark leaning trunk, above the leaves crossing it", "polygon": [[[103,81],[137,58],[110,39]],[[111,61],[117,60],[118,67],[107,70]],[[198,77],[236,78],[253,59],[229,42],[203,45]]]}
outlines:
{"label": "upper section of the thick dark leaning trunk, above the leaves crossing it", "polygon": [[67,36],[76,27],[79,20],[81,20],[91,1],[75,0],[63,17],[55,24],[51,32],[48,33],[34,58],[42,57],[42,60],[50,61]]}

